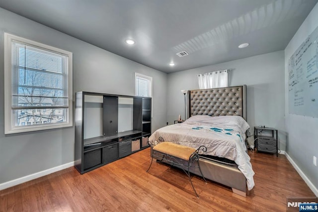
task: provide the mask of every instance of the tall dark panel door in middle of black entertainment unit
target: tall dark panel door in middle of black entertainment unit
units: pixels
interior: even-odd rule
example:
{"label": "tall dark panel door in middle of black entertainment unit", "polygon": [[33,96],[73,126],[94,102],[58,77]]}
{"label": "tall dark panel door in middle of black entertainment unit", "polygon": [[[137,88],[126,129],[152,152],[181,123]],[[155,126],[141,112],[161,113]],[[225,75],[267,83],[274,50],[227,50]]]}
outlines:
{"label": "tall dark panel door in middle of black entertainment unit", "polygon": [[103,135],[118,132],[118,97],[104,96],[103,100]]}

